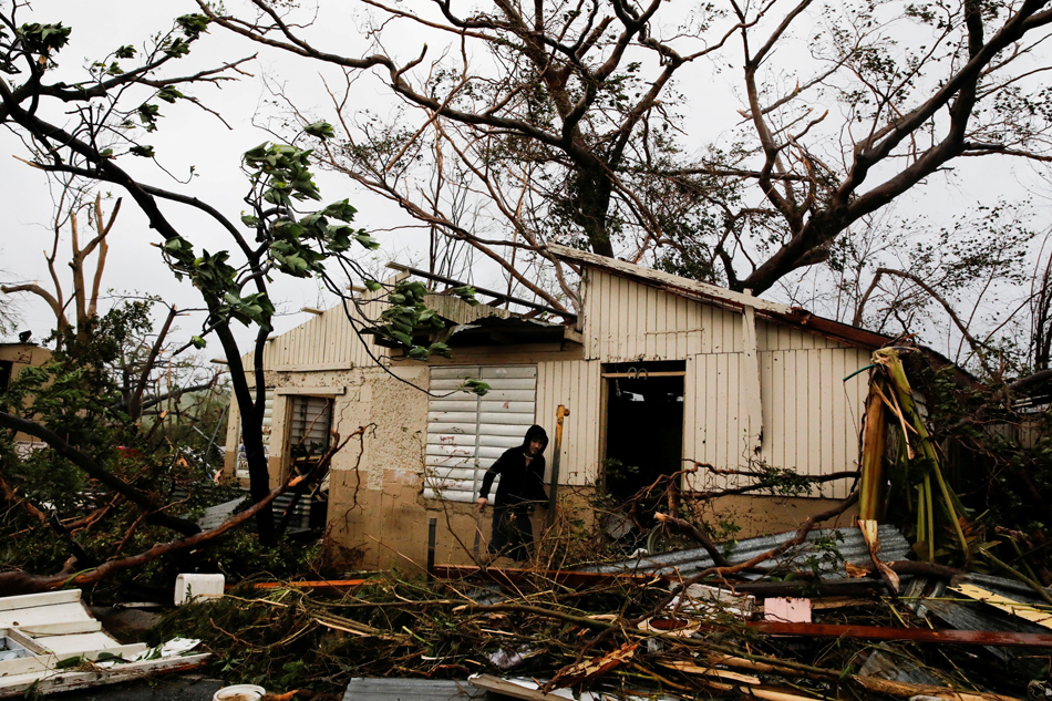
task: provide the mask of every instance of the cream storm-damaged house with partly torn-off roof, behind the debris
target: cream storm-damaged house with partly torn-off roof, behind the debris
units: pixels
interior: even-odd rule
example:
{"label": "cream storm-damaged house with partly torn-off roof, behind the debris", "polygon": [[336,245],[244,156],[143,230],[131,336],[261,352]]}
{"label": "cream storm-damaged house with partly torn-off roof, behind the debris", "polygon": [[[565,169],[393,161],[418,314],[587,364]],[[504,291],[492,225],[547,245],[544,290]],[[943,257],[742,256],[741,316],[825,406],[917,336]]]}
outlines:
{"label": "cream storm-damaged house with partly torn-off roof, behind the debris", "polygon": [[[453,359],[404,359],[359,336],[342,306],[268,342],[272,484],[297,468],[306,446],[317,455],[330,427],[347,436],[370,426],[361,455],[349,444],[328,483],[330,536],[363,548],[365,566],[424,563],[431,518],[437,561],[471,561],[478,526],[484,551],[488,514],[478,519],[474,501],[485,470],[533,423],[554,437],[559,405],[569,410],[560,495],[587,495],[601,483],[626,497],[692,461],[721,471],[684,475],[682,486],[694,491],[733,487],[746,477],[728,473],[759,466],[803,475],[857,468],[867,378],[845,378],[869,364],[885,337],[628,262],[549,251],[580,270],[580,316],[432,295],[427,305],[454,324]],[[411,271],[458,285],[402,270],[391,281]],[[367,318],[379,317],[383,295],[363,296]],[[487,295],[508,301],[479,290]],[[251,367],[251,357],[245,362]],[[466,378],[489,392],[457,392]],[[231,411],[228,445],[237,445]],[[555,441],[549,473],[554,450]],[[247,477],[235,462],[227,470]],[[847,496],[852,482],[823,483],[812,498],[724,497],[716,509],[733,514],[742,535],[785,530]]]}

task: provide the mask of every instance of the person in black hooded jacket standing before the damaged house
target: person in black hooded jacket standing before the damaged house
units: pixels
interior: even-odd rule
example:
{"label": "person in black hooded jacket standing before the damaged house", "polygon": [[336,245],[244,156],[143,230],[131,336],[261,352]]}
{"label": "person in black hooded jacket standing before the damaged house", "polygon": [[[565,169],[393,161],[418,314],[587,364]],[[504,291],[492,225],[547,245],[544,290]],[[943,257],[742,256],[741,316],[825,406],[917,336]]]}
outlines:
{"label": "person in black hooded jacket standing before the damaged house", "polygon": [[484,512],[489,503],[493,480],[501,475],[497,503],[493,508],[491,555],[507,555],[519,561],[529,558],[529,544],[534,542],[529,512],[534,504],[548,506],[544,491],[544,450],[547,445],[548,434],[535,424],[526,431],[522,445],[505,451],[486,471],[478,491],[479,512]]}

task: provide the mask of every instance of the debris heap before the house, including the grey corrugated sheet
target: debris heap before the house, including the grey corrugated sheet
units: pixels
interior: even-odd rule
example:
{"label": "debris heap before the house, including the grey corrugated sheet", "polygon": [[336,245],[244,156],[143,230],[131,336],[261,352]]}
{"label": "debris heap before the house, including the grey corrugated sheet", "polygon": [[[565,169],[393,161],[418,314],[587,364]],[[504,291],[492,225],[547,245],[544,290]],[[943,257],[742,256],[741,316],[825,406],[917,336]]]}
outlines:
{"label": "debris heap before the house, including the grey corrugated sheet", "polygon": [[[436,568],[430,584],[384,575],[338,596],[331,583],[324,596],[240,588],[165,626],[207,638],[216,669],[237,664],[240,681],[268,690],[411,678],[523,699],[1044,694],[1052,607],[1041,594],[941,576],[948,568],[910,571],[918,563],[898,559],[901,536],[885,527],[880,536],[900,590],[862,533],[844,528],[743,542],[723,568],[699,569],[708,555],[695,550],[646,568],[638,559],[592,571]],[[842,550],[816,549],[824,542]]]}

